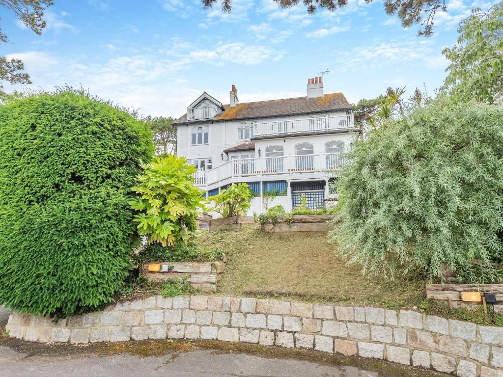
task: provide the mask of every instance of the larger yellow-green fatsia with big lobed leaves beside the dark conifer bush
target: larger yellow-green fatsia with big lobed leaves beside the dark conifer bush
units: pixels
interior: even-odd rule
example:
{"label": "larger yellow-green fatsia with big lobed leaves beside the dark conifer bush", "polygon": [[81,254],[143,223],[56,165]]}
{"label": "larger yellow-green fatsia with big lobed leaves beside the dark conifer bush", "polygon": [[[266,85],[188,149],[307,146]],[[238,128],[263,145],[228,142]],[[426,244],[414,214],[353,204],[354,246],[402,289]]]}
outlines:
{"label": "larger yellow-green fatsia with big lobed leaves beside the dark conifer bush", "polygon": [[169,155],[142,167],[139,183],[132,187],[138,196],[129,202],[139,211],[133,220],[138,233],[147,236],[148,243],[171,246],[182,240],[187,244],[197,229],[198,212],[205,210],[203,192],[194,185],[195,166]]}

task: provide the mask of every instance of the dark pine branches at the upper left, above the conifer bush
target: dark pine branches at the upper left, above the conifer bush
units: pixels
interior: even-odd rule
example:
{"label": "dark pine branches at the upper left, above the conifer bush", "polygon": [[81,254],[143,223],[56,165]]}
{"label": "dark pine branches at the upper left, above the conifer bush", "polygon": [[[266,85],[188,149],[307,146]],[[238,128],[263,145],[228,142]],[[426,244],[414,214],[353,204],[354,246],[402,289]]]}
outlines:
{"label": "dark pine branches at the upper left, above the conifer bush", "polygon": [[[44,10],[54,3],[52,0],[0,0],[0,6],[13,12],[23,24],[40,35],[42,29],[46,27],[43,19]],[[0,29],[0,43],[9,42],[7,34]],[[20,59],[8,60],[5,56],[0,56],[0,80],[8,81],[11,84],[31,84],[28,73],[23,72],[25,68]],[[3,85],[0,83],[0,93],[3,93]],[[2,95],[3,96],[3,95]]]}

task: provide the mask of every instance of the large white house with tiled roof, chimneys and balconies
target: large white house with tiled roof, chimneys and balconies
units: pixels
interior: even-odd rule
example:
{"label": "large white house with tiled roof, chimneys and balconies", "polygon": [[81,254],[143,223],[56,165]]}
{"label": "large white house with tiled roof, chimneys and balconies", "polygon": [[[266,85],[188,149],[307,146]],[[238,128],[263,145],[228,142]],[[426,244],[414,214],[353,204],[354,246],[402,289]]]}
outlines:
{"label": "large white house with tiled roof, chimneys and balconies", "polygon": [[287,211],[300,203],[324,206],[328,181],[344,163],[341,152],[359,130],[343,93],[323,93],[321,77],[307,80],[307,96],[239,103],[234,85],[228,105],[202,93],[177,119],[177,151],[198,168],[196,184],[216,195],[246,182],[257,194],[250,212],[264,212],[264,192]]}

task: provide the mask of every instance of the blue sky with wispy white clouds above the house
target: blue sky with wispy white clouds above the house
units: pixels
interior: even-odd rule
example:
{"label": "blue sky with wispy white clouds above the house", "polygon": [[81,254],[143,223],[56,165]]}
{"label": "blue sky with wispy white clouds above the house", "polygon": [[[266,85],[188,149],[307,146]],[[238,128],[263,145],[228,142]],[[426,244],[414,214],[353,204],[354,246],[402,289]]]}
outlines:
{"label": "blue sky with wispy white clouds above the house", "polygon": [[305,96],[307,79],[327,68],[325,93],[342,91],[350,102],[387,86],[410,93],[425,83],[433,94],[445,77],[441,51],[456,42],[459,21],[475,6],[488,8],[447,0],[435,35],[424,38],[387,17],[380,1],[349,0],[315,16],[272,0],[233,0],[227,15],[199,0],[54,3],[42,36],[0,11],[12,42],[3,54],[25,61],[31,87],[82,85],[142,115],[175,118],[204,90],[228,103],[231,84],[240,102]]}

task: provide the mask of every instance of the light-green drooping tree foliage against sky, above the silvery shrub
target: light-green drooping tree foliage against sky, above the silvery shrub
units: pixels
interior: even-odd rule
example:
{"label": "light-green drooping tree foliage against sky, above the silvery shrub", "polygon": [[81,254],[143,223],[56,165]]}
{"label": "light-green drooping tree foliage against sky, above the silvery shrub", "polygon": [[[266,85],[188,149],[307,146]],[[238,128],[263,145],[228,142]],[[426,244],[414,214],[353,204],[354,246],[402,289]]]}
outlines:
{"label": "light-green drooping tree foliage against sky, above the silvery shrub", "polygon": [[474,9],[458,28],[458,43],[442,53],[451,61],[444,89],[461,99],[500,102],[503,95],[503,3]]}

